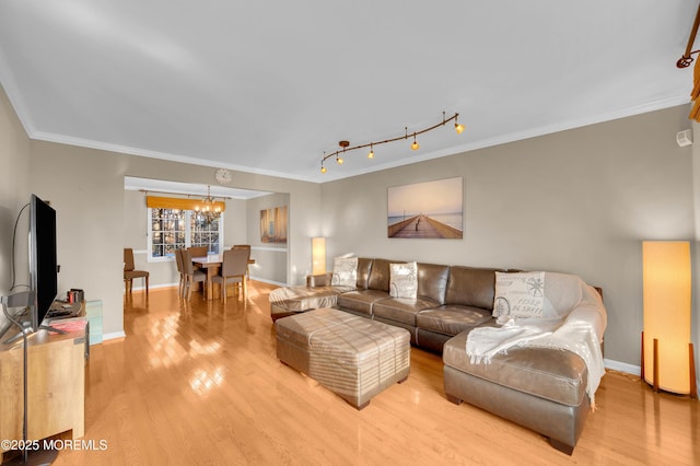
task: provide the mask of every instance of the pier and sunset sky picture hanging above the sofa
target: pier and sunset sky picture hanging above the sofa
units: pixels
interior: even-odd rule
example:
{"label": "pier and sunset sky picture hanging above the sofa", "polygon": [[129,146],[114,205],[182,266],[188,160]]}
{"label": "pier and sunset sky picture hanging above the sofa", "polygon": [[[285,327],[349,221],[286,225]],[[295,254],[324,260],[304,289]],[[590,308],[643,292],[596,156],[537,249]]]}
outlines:
{"label": "pier and sunset sky picture hanging above the sofa", "polygon": [[387,196],[387,235],[462,240],[462,177],[393,186]]}

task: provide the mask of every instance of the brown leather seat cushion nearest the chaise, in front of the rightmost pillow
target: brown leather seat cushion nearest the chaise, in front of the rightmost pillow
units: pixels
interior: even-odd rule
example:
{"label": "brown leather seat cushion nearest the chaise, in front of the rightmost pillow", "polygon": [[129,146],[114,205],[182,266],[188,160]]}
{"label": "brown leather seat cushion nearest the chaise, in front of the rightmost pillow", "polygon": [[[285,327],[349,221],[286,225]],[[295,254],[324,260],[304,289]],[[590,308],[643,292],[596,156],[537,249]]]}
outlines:
{"label": "brown leather seat cushion nearest the chaise, in front of the rightmost pillow", "polygon": [[455,336],[489,321],[492,318],[487,310],[447,304],[419,312],[416,316],[416,326],[436,334]]}

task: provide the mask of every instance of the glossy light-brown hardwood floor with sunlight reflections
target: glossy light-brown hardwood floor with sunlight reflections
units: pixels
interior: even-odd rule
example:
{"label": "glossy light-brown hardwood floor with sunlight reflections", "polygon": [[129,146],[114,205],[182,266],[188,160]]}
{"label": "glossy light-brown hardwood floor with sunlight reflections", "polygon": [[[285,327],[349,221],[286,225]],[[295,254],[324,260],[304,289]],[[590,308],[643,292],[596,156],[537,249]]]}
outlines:
{"label": "glossy light-brown hardwood floor with sunlight reflections", "polygon": [[416,348],[408,381],[358,411],[277,360],[271,289],[252,282],[225,307],[135,292],[127,337],[92,347],[83,441],[96,448],[62,450],[55,464],[700,464],[699,404],[616,372],[572,456],[447,401],[441,358]]}

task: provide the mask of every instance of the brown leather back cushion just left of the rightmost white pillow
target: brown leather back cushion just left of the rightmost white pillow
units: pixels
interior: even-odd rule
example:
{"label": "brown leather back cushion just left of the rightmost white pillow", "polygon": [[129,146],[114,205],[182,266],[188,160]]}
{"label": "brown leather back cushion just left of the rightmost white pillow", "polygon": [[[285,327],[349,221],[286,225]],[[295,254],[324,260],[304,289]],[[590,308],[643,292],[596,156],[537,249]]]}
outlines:
{"label": "brown leather back cushion just left of the rightmost white pillow", "polygon": [[445,304],[493,308],[495,272],[500,269],[453,266],[450,268]]}

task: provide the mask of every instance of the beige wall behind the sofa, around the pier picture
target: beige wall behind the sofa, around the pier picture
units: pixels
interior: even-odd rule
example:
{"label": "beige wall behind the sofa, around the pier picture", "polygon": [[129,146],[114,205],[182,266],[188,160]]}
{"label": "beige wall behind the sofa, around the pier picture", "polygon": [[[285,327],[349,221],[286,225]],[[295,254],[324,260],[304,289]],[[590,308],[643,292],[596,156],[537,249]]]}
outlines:
{"label": "beige wall behind the sofa, around the pier picture", "polygon": [[[687,115],[669,108],[326,183],[329,266],[355,253],[576,273],[603,287],[606,359],[639,365],[641,241],[695,237],[691,149],[675,141]],[[464,240],[386,237],[389,186],[454,176]]]}

